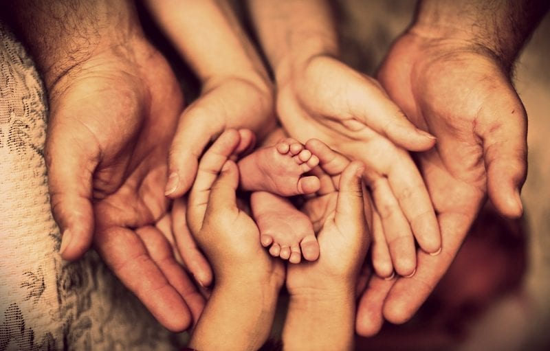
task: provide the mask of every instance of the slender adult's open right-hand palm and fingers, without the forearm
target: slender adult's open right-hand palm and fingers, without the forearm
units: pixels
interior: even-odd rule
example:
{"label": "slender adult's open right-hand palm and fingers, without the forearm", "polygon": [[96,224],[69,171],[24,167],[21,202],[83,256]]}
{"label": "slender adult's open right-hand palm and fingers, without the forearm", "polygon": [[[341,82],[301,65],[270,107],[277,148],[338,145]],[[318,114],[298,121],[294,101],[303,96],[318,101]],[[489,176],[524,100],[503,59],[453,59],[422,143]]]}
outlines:
{"label": "slender adult's open right-hand palm and fingers, without the forearm", "polygon": [[[430,196],[417,166],[399,147],[427,150],[434,139],[412,126],[375,80],[335,58],[314,56],[278,81],[277,112],[292,137],[321,139],[365,164],[366,183],[382,218],[374,236],[384,245],[373,245],[380,275],[390,276],[394,268],[401,275],[414,273],[412,234],[425,251],[439,250]],[[386,240],[393,264],[387,249],[384,253]]]}

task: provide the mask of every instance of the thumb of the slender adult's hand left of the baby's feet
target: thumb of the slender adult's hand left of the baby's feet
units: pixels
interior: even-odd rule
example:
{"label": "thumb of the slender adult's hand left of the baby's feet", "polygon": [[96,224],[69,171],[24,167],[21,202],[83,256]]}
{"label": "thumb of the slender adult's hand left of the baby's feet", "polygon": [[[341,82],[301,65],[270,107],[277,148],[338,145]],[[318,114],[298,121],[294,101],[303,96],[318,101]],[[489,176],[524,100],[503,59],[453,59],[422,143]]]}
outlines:
{"label": "thumb of the slender adult's hand left of the baby's feet", "polygon": [[204,148],[216,139],[222,127],[208,113],[197,108],[197,104],[184,111],[170,146],[166,196],[175,199],[191,188]]}

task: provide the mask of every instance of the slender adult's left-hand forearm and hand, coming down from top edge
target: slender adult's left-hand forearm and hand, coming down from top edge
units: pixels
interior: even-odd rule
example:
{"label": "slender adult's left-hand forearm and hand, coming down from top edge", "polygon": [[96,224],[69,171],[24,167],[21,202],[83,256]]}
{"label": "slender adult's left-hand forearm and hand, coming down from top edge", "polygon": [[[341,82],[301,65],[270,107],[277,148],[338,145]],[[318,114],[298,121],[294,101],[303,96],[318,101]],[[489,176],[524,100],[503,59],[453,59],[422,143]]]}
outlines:
{"label": "slender adult's left-hand forearm and hand, coming down from top edge", "polygon": [[[174,218],[181,218],[186,199],[179,198],[190,189],[208,144],[228,128],[248,128],[261,138],[275,126],[273,88],[228,1],[145,3],[201,82],[199,98],[179,117],[168,157],[164,192],[176,199]],[[209,286],[212,269],[184,222],[174,230],[179,253],[197,282]]]}

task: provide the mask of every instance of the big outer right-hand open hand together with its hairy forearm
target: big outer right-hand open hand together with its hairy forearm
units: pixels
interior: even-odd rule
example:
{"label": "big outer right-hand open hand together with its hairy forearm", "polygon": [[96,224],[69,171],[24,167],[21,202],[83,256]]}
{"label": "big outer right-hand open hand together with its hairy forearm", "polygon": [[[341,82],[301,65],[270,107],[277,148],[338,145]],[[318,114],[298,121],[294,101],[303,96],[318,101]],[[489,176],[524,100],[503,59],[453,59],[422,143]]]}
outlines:
{"label": "big outer right-hand open hand together with its hairy forearm", "polygon": [[547,1],[424,0],[386,56],[380,82],[411,122],[438,140],[418,160],[438,213],[443,251],[437,257],[419,251],[410,279],[373,278],[359,306],[360,334],[375,334],[384,319],[402,323],[414,315],[449,267],[487,195],[501,214],[521,216],[527,116],[511,68],[548,6]]}

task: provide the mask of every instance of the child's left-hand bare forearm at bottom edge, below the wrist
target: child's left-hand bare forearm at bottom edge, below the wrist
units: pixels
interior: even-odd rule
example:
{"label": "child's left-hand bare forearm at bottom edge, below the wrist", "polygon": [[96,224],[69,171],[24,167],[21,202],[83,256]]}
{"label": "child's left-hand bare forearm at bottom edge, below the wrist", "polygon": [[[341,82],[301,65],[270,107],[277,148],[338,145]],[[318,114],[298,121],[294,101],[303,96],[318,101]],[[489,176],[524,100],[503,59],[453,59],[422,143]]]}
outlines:
{"label": "child's left-hand bare forearm at bottom edge, below the wrist", "polygon": [[258,350],[270,334],[280,287],[236,280],[219,282],[201,314],[189,347]]}

